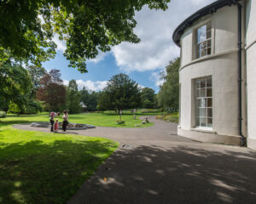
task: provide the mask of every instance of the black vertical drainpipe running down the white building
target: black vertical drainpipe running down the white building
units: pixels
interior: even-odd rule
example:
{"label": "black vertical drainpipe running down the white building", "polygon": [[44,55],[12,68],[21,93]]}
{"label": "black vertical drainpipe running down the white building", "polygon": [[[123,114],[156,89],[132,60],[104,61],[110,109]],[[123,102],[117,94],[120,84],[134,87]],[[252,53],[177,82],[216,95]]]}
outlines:
{"label": "black vertical drainpipe running down the white building", "polygon": [[241,146],[246,146],[247,145],[247,139],[246,137],[242,134],[242,107],[241,107],[241,4],[236,1],[236,5],[238,8],[238,82],[239,82],[239,134],[241,136]]}

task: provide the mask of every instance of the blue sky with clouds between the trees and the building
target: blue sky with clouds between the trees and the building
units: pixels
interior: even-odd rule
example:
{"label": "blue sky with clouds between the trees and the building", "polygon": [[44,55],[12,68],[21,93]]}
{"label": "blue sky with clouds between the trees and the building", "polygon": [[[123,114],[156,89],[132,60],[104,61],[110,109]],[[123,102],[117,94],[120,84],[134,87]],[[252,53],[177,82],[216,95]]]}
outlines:
{"label": "blue sky with clouds between the trees and the building", "polygon": [[81,74],[77,69],[68,67],[69,63],[63,56],[65,42],[55,37],[58,46],[55,59],[50,59],[43,66],[47,71],[61,70],[64,84],[67,85],[70,80],[75,79],[79,89],[85,87],[91,91],[100,91],[110,77],[122,72],[142,88],[153,88],[157,93],[163,83],[160,72],[165,71],[169,61],[180,54],[180,49],[172,41],[173,31],[189,15],[214,1],[171,0],[166,11],[143,7],[135,16],[137,27],[134,29],[141,42],[122,42],[110,52],[98,54],[96,59],[86,62],[88,73]]}

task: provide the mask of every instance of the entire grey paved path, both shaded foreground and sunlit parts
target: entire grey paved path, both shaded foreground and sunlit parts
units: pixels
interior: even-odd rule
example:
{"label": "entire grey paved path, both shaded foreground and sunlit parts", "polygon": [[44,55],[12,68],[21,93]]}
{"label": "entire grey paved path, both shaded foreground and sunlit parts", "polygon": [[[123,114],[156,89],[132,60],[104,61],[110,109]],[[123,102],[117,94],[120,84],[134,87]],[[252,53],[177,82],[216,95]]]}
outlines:
{"label": "entire grey paved path, both shaded foreground and sunlit parts", "polygon": [[174,123],[149,120],[154,127],[72,131],[120,145],[68,204],[256,203],[256,151],[198,143],[178,137]]}

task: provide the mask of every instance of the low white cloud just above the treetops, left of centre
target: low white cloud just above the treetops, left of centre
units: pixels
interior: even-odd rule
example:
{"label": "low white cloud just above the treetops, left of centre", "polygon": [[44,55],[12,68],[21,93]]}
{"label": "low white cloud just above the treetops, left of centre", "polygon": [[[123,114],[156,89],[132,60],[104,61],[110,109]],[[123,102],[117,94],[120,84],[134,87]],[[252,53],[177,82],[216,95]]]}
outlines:
{"label": "low white cloud just above the treetops, left of centre", "polygon": [[[96,81],[92,82],[90,80],[83,81],[82,79],[76,80],[78,84],[79,90],[82,90],[83,88],[86,88],[90,91],[101,91],[103,88],[107,86],[107,81]],[[68,86],[69,81],[63,80],[64,85]]]}

